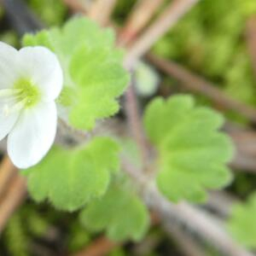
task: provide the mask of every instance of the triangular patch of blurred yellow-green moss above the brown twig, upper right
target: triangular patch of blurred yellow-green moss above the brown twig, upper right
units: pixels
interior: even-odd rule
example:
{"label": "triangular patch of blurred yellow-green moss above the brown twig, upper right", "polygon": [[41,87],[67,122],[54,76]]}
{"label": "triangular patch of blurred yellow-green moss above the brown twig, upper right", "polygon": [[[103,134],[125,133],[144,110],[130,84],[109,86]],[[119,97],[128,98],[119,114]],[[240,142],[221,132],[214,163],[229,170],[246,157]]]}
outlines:
{"label": "triangular patch of blurred yellow-green moss above the brown twig, upper right", "polygon": [[256,15],[254,0],[200,1],[155,44],[154,52],[183,63],[216,81],[230,96],[255,105],[252,64],[245,47],[251,15]]}

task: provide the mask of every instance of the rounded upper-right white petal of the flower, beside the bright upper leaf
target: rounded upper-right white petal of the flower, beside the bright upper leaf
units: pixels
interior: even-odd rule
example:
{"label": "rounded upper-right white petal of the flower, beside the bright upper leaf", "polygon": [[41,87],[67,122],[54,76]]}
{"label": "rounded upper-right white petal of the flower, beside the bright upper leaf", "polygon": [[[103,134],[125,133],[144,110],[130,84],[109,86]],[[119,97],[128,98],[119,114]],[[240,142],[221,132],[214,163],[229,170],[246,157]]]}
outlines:
{"label": "rounded upper-right white petal of the flower, beside the bright upper leaf", "polygon": [[43,46],[19,50],[22,75],[32,79],[41,92],[43,101],[55,100],[61,93],[63,73],[56,55]]}

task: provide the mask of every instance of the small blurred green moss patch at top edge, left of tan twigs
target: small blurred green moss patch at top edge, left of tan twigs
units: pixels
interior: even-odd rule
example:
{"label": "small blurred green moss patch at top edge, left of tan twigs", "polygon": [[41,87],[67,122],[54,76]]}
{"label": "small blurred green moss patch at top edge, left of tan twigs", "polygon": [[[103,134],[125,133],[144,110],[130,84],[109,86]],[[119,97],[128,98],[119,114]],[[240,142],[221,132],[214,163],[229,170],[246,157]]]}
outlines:
{"label": "small blurred green moss patch at top edge, left of tan twigs", "polygon": [[28,3],[45,24],[59,25],[67,15],[67,6],[62,0],[29,0]]}

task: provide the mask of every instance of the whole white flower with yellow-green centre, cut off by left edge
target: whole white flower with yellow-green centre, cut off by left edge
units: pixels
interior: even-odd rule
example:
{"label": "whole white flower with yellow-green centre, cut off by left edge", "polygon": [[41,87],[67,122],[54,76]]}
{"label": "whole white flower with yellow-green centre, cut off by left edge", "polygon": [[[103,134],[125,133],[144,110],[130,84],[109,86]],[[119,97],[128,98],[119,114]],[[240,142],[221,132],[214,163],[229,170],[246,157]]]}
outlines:
{"label": "whole white flower with yellow-green centre, cut off by left edge", "polygon": [[0,42],[0,140],[15,166],[27,168],[41,160],[54,142],[63,74],[49,49],[17,50]]}

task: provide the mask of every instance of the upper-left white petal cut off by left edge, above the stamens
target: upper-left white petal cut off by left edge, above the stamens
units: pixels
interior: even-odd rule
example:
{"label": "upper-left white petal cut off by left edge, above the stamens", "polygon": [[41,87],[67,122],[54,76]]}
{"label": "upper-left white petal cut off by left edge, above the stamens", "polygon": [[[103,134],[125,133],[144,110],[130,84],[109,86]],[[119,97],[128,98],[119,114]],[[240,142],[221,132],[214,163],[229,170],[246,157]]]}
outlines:
{"label": "upper-left white petal cut off by left edge, above the stamens", "polygon": [[0,89],[11,87],[17,79],[18,50],[0,42]]}

